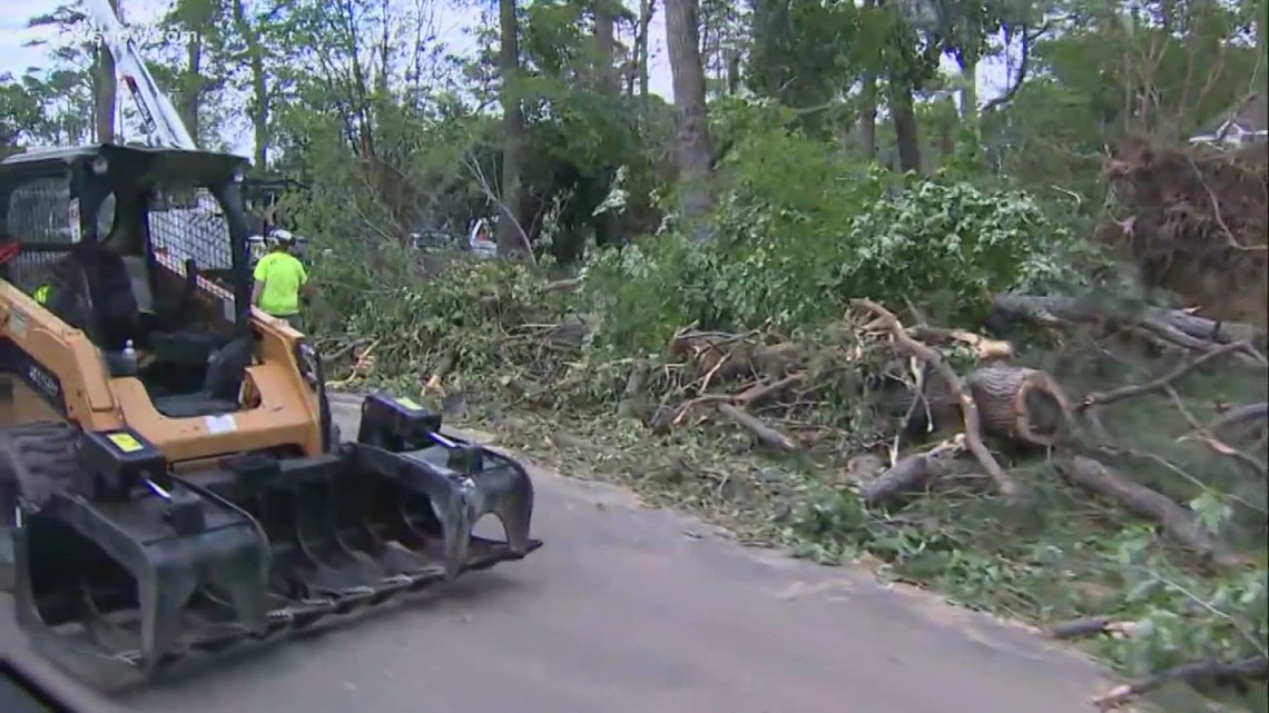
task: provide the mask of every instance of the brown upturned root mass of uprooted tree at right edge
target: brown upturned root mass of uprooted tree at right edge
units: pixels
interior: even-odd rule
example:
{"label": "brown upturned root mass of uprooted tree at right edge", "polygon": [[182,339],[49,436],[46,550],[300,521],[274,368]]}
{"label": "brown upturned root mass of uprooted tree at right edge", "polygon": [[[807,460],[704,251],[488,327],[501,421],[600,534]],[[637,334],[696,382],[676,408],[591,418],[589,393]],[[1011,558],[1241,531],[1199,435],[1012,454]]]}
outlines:
{"label": "brown upturned root mass of uprooted tree at right edge", "polygon": [[1269,145],[1237,150],[1123,142],[1105,175],[1126,217],[1100,236],[1148,287],[1214,318],[1264,326],[1269,302]]}

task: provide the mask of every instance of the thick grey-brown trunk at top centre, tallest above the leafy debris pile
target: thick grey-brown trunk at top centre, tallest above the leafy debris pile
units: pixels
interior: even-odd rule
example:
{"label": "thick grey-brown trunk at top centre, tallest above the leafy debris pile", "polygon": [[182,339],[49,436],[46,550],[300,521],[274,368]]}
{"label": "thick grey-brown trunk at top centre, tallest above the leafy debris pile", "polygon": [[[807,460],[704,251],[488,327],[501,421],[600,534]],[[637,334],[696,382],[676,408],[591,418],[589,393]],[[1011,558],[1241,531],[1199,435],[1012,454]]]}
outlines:
{"label": "thick grey-brown trunk at top centre, tallest above the leafy debris pile", "polygon": [[692,225],[693,237],[706,240],[700,219],[709,212],[709,165],[713,147],[706,113],[706,75],[700,63],[698,0],[666,0],[665,34],[674,76],[674,104],[678,108],[679,209]]}

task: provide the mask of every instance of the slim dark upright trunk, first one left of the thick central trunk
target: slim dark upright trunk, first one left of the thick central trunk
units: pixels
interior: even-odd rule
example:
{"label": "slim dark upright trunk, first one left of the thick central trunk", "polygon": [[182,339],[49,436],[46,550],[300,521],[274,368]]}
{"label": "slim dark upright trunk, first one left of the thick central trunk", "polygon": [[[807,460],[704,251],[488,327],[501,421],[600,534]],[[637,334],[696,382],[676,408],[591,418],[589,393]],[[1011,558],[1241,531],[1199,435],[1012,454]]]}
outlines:
{"label": "slim dark upright trunk, first one left of the thick central trunk", "polygon": [[499,0],[497,70],[503,80],[503,190],[499,195],[497,252],[523,256],[527,237],[520,231],[520,164],[524,152],[524,112],[520,108],[520,38],[515,0]]}

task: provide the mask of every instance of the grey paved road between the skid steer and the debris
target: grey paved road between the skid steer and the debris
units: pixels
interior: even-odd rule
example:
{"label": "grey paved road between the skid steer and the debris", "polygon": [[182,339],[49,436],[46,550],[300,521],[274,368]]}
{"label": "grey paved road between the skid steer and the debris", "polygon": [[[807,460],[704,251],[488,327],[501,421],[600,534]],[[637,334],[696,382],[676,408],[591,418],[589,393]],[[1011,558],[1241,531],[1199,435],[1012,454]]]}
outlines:
{"label": "grey paved road between the skid steer and the debris", "polygon": [[[355,409],[339,417],[357,433]],[[117,710],[1086,713],[1104,685],[1015,627],[737,547],[615,488],[534,478],[546,546],[529,558]]]}

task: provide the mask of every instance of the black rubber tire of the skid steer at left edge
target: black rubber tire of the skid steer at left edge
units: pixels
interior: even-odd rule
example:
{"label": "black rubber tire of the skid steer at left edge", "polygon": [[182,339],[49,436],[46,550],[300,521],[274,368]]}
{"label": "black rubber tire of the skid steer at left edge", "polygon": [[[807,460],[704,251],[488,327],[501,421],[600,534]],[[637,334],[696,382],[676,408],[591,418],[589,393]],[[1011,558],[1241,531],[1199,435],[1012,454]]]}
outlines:
{"label": "black rubber tire of the skid steer at left edge", "polygon": [[69,490],[79,467],[79,429],[41,421],[0,429],[0,591],[13,591],[13,530],[19,507],[39,507]]}

